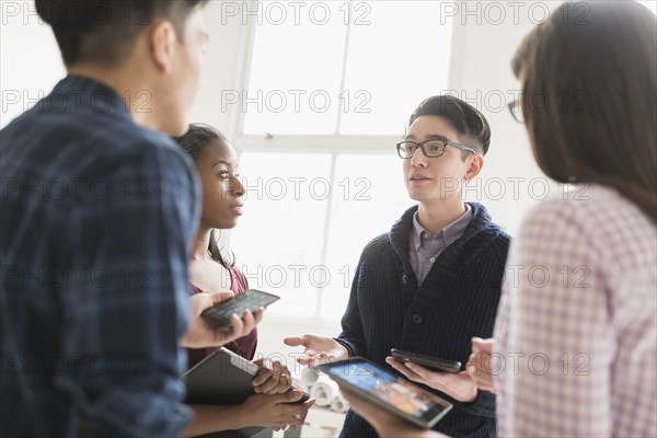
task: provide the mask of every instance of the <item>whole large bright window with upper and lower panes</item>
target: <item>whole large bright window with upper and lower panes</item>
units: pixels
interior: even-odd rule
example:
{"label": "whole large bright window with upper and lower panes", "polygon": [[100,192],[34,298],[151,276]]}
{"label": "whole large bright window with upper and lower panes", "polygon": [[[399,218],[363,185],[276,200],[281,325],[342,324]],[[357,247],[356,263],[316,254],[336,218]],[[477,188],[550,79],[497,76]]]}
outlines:
{"label": "whole large bright window with upper and lower panes", "polygon": [[412,205],[394,143],[448,89],[451,20],[435,1],[260,7],[249,83],[229,96],[246,186],[231,246],[252,287],[283,297],[268,314],[335,320],[360,251]]}

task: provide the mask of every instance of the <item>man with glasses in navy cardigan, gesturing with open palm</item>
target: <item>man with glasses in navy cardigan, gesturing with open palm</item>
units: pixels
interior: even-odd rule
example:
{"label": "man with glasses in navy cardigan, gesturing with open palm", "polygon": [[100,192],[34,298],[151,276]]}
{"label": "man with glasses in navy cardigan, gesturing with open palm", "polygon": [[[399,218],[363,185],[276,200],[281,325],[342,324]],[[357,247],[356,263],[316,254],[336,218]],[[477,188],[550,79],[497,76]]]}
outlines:
{"label": "man with glasses in navy cardigan, gesturing with open palm", "polygon": [[[429,374],[396,362],[390,349],[465,364],[471,338],[493,333],[509,237],[481,204],[463,203],[463,187],[482,170],[489,142],[488,123],[471,105],[445,95],[424,101],[396,145],[418,205],[362,251],[343,333],[285,339],[306,347],[301,364],[364,356],[438,388],[454,408],[436,430],[450,436],[495,436],[494,395],[480,392],[465,371]],[[377,435],[349,412],[341,436]]]}

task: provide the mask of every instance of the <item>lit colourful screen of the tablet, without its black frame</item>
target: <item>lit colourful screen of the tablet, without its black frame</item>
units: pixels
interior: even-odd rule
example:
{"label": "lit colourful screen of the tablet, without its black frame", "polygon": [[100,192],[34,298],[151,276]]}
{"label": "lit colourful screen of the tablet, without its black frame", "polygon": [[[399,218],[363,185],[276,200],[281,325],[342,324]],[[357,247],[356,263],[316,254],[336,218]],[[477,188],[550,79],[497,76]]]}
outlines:
{"label": "lit colourful screen of the tablet, without its black frame", "polygon": [[429,419],[449,407],[446,402],[415,384],[366,361],[345,361],[327,369],[330,376],[369,393],[418,419]]}

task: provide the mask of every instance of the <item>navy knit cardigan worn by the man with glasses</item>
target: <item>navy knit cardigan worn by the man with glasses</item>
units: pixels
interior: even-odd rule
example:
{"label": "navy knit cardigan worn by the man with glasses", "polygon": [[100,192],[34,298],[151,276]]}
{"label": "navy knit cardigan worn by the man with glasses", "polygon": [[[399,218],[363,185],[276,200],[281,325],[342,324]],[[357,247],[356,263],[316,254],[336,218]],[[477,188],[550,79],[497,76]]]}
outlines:
{"label": "navy knit cardigan worn by the man with glasses", "polygon": [[[373,239],[358,263],[343,332],[336,338],[351,356],[385,364],[391,348],[468,362],[473,336],[492,337],[509,246],[509,235],[492,222],[481,204],[463,235],[436,260],[422,285],[410,263],[408,235],[417,206],[390,232]],[[429,389],[428,387],[425,387]],[[453,408],[434,428],[452,437],[495,437],[495,396],[480,391]],[[376,431],[353,411],[341,437],[369,438]]]}

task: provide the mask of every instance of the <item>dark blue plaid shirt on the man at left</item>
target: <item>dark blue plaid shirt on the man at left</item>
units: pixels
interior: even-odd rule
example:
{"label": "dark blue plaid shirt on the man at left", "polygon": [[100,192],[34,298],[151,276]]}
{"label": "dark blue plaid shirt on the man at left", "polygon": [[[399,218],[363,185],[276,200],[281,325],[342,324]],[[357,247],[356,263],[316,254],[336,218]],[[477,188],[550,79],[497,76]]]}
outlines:
{"label": "dark blue plaid shirt on the man at left", "polygon": [[0,436],[178,434],[193,164],[74,76],[0,140]]}

